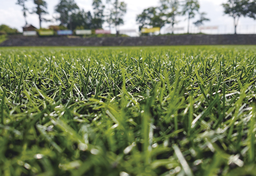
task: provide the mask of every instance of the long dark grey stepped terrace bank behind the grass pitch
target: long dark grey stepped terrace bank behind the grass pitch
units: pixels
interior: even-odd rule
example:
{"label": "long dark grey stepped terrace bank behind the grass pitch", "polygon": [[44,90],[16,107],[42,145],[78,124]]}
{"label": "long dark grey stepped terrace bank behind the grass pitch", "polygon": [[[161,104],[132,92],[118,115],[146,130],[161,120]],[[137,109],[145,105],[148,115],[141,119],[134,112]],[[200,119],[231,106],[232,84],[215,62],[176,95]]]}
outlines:
{"label": "long dark grey stepped terrace bank behind the grass pitch", "polygon": [[11,36],[0,46],[154,46],[154,45],[256,44],[256,35],[186,34],[140,37],[25,37]]}

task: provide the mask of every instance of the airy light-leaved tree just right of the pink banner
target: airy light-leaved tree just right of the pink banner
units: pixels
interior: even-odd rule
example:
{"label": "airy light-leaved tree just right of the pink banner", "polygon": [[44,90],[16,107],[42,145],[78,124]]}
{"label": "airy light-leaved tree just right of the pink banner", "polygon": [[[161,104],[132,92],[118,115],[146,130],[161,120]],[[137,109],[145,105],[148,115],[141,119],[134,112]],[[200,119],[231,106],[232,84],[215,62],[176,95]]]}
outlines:
{"label": "airy light-leaved tree just right of the pink banner", "polygon": [[115,26],[116,35],[118,35],[119,32],[117,27],[124,24],[123,18],[126,13],[127,4],[124,2],[120,2],[119,0],[114,0],[113,2],[111,0],[107,0],[107,3],[112,6],[112,8],[109,9],[107,22],[109,23],[109,26]]}

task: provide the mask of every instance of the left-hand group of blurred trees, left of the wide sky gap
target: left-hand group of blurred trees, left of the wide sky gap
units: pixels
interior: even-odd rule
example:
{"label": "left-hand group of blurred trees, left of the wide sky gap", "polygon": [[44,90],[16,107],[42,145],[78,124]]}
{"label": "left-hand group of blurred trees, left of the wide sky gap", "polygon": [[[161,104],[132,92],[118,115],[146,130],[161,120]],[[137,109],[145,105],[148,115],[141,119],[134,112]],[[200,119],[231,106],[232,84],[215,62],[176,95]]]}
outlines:
{"label": "left-hand group of blurred trees, left of the wide sky gap", "polygon": [[18,5],[22,7],[23,16],[26,24],[28,13],[36,13],[39,17],[39,26],[43,21],[56,20],[60,22],[60,26],[73,29],[97,29],[102,28],[106,21],[109,26],[118,27],[124,24],[124,14],[126,13],[127,4],[120,0],[106,0],[108,8],[105,7],[101,0],[93,0],[93,13],[80,9],[74,0],[60,0],[54,7],[57,17],[53,19],[44,18],[48,14],[47,3],[45,0],[33,0],[36,5],[33,9],[28,9],[26,3],[29,0],[17,0]]}

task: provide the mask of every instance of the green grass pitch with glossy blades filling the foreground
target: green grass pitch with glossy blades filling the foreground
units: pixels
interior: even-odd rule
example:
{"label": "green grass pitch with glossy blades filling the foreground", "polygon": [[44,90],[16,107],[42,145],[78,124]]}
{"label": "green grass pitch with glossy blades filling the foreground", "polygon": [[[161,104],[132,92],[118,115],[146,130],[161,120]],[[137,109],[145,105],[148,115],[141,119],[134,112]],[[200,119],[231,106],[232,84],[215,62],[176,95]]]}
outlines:
{"label": "green grass pitch with glossy blades filling the foreground", "polygon": [[255,55],[0,48],[0,175],[256,175]]}

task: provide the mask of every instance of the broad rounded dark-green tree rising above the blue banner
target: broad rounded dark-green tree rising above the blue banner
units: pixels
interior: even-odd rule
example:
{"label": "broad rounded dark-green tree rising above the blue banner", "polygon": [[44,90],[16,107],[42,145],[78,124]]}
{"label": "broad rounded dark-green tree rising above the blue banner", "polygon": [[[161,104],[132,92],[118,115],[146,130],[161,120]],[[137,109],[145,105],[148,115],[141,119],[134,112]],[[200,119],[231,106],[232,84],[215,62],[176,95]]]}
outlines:
{"label": "broad rounded dark-green tree rising above the blue banner", "polygon": [[72,30],[72,14],[76,13],[79,7],[74,0],[60,0],[59,4],[55,6],[55,12],[59,13],[56,20],[60,21],[60,25],[69,26]]}

